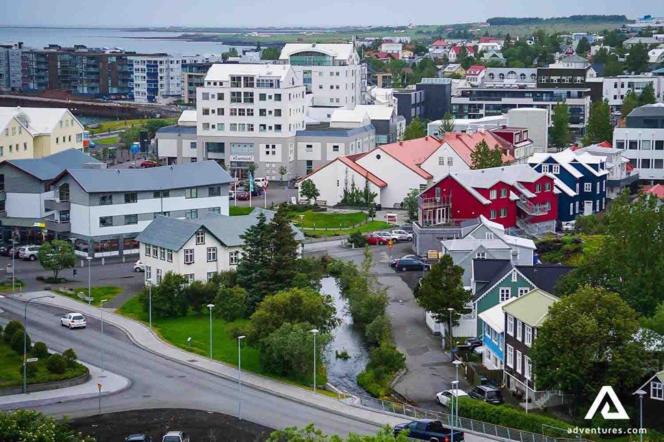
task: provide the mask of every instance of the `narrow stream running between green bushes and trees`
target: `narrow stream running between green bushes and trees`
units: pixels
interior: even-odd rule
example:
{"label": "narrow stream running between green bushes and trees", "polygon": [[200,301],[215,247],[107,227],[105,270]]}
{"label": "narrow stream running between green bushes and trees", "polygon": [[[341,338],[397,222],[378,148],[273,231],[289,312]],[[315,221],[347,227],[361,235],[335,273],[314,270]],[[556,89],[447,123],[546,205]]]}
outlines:
{"label": "narrow stream running between green bushes and trees", "polygon": [[[342,321],[340,326],[332,332],[332,341],[325,349],[327,381],[336,386],[337,389],[349,393],[366,394],[361,386],[357,385],[356,378],[369,362],[368,348],[363,343],[361,332],[353,328],[353,318],[346,311],[348,310],[348,302],[342,297],[335,279],[323,278],[321,284],[322,293],[327,293],[334,298],[337,318]],[[344,349],[348,352],[350,358],[337,358],[336,352],[341,353]]]}

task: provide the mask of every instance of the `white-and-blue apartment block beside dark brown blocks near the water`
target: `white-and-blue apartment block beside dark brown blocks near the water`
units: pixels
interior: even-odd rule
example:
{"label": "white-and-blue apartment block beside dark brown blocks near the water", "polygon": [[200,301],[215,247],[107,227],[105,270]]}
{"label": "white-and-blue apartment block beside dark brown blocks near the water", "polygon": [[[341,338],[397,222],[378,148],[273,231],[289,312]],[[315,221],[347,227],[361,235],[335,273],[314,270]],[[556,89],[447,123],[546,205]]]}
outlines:
{"label": "white-and-blue apartment block beside dark brown blocks near the water", "polygon": [[180,98],[183,95],[182,65],[192,63],[222,62],[221,56],[183,56],[181,54],[158,54],[128,57],[129,71],[133,77],[129,88],[134,101],[142,103],[157,101],[161,97]]}

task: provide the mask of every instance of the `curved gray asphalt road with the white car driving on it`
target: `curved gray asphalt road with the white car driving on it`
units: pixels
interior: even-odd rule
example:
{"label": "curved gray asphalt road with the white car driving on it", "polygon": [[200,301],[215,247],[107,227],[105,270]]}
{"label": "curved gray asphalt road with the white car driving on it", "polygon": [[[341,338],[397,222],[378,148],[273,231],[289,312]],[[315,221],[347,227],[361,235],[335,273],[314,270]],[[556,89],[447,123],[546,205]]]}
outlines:
{"label": "curved gray asphalt road with the white car driving on it", "polygon": [[[25,304],[16,299],[0,299],[0,324],[11,319],[23,321]],[[68,330],[60,326],[65,311],[31,303],[28,307],[28,334],[62,352],[73,348],[80,360],[101,365],[101,323],[88,319],[88,328]],[[133,345],[124,332],[104,324],[105,369],[125,376],[131,386],[103,397],[102,411],[110,413],[142,408],[194,408],[227,415],[238,413],[238,384],[186,365],[175,363]],[[33,407],[49,415],[86,416],[96,413],[96,398]],[[293,400],[242,385],[242,417],[270,428],[305,426],[309,422],[329,434],[375,432],[378,427],[301,404]]]}

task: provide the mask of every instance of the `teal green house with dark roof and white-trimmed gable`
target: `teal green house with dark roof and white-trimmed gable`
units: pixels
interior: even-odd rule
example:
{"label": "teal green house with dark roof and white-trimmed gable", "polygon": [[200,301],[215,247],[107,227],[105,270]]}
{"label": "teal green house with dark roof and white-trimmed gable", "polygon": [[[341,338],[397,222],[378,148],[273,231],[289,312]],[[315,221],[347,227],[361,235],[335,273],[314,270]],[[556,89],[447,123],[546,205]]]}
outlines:
{"label": "teal green house with dark roof and white-trimmed gable", "polygon": [[472,309],[476,336],[483,335],[481,312],[513,297],[525,295],[533,288],[555,293],[559,278],[574,267],[565,265],[515,265],[507,259],[472,260]]}

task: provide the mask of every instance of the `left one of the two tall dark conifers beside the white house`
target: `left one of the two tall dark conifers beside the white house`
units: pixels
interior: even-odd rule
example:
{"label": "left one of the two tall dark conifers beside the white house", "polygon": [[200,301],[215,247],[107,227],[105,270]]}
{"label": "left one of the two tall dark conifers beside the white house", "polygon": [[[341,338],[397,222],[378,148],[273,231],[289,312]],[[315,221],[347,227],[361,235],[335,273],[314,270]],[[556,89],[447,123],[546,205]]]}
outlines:
{"label": "left one of the two tall dark conifers beside the white house", "polygon": [[264,212],[257,216],[257,223],[249,227],[242,238],[242,259],[238,264],[238,285],[249,295],[249,310],[253,311],[270,292],[270,232]]}

